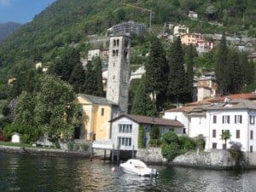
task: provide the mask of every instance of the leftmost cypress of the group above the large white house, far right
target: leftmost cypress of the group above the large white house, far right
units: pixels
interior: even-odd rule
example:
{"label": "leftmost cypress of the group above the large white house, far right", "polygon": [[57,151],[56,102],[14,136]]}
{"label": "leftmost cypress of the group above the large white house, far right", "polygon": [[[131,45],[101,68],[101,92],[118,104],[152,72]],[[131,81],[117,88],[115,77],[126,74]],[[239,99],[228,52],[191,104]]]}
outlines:
{"label": "leftmost cypress of the group above the large white house, far right", "polygon": [[228,47],[226,38],[223,35],[218,45],[216,62],[215,62],[215,75],[218,83],[218,92],[220,94],[229,94],[229,67],[228,67]]}

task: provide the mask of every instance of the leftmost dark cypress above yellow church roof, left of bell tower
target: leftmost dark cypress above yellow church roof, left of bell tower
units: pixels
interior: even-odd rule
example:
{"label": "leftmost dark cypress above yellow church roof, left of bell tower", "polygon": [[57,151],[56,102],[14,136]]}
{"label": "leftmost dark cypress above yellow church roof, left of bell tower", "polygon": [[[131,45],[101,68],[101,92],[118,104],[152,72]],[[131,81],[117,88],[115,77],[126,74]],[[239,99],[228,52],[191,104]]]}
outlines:
{"label": "leftmost dark cypress above yellow church roof, left of bell tower", "polygon": [[73,90],[75,93],[84,92],[84,81],[85,73],[84,68],[81,63],[78,63],[74,68],[71,76],[69,78],[69,83],[73,85]]}

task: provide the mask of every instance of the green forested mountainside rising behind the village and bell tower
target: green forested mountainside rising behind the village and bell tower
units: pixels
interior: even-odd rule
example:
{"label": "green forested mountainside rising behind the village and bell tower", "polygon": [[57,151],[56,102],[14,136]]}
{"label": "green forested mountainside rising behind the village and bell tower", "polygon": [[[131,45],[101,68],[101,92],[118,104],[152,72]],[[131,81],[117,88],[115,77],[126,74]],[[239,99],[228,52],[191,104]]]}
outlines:
{"label": "green forested mountainside rising behind the village and bell tower", "polygon": [[[108,27],[134,20],[149,25],[153,11],[153,32],[165,22],[183,23],[190,32],[229,32],[255,37],[256,3],[253,0],[57,0],[42,13],[21,26],[0,45],[0,80],[20,73],[36,61],[51,65],[61,49],[73,45],[78,51],[90,48],[88,35],[105,34]],[[188,11],[198,13],[189,20]]]}

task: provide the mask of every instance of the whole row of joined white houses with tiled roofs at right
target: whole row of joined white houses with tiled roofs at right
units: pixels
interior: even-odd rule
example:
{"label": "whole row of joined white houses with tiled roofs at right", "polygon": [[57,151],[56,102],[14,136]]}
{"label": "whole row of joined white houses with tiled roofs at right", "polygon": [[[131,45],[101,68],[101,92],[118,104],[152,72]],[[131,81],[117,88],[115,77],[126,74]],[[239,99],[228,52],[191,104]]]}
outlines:
{"label": "whole row of joined white houses with tiled roofs at right", "polygon": [[[206,139],[206,150],[230,148],[230,142],[241,143],[245,152],[256,152],[256,103],[253,95],[248,99],[212,99],[211,102],[198,102],[198,105],[167,110],[164,118],[178,119],[186,128],[189,137],[202,134]],[[190,103],[191,104],[191,103]],[[225,146],[221,139],[224,130],[230,131],[231,137]]]}

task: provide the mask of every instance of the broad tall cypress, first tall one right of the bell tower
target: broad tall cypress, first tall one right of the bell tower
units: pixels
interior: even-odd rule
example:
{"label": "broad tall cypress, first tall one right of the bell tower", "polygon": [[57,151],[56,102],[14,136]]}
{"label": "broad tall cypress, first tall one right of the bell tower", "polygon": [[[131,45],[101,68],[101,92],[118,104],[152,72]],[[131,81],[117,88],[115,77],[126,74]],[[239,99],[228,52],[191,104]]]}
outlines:
{"label": "broad tall cypress, first tall one right of the bell tower", "polygon": [[155,95],[156,103],[162,104],[163,100],[158,99],[164,95],[167,86],[168,65],[166,62],[165,50],[158,38],[154,38],[145,64],[145,83],[148,92]]}

